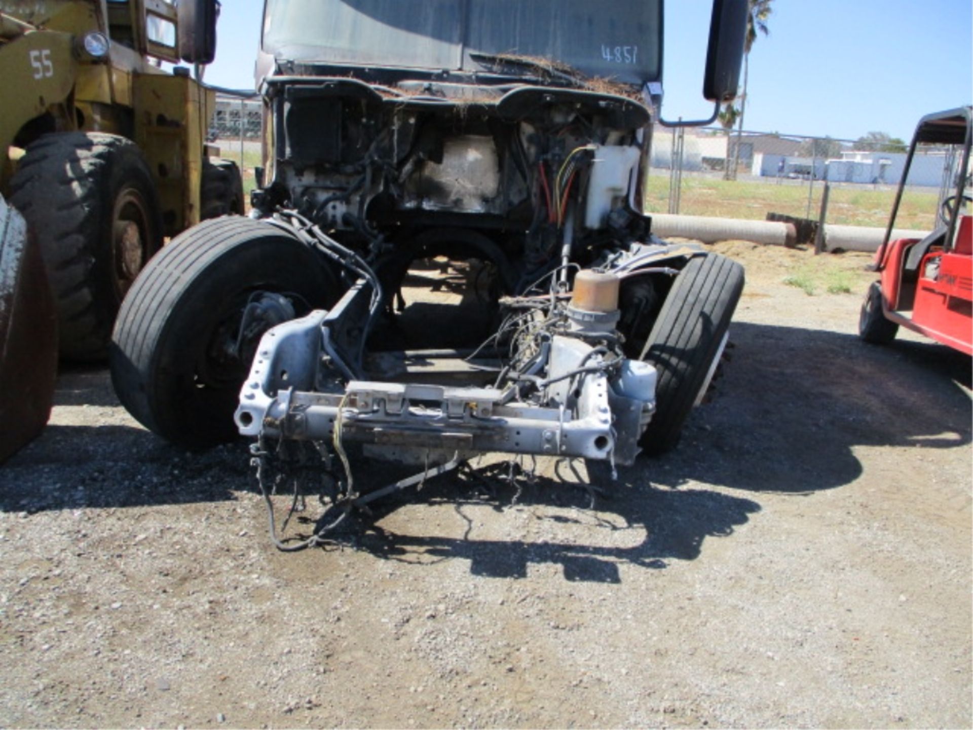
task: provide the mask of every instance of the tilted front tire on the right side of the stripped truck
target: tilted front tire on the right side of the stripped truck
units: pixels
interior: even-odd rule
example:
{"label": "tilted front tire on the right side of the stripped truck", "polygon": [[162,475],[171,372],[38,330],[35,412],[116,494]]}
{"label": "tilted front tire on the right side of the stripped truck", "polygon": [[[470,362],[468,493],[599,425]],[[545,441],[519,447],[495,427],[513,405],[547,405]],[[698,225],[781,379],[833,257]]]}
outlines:
{"label": "tilted front tire on the right side of the stripped truck", "polygon": [[742,291],[743,267],[719,254],[694,257],[676,275],[641,354],[658,371],[656,413],[639,439],[646,454],[664,454],[679,442],[726,345]]}

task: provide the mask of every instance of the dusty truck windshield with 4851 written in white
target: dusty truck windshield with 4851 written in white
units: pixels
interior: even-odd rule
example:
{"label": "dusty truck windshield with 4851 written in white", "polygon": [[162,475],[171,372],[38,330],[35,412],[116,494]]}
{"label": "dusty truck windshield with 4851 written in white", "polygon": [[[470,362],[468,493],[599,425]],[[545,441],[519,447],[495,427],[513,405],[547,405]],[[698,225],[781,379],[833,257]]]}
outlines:
{"label": "dusty truck windshield with 4851 written in white", "polygon": [[661,76],[662,33],[662,0],[267,0],[263,48],[308,63],[466,72],[496,71],[500,56],[641,86]]}

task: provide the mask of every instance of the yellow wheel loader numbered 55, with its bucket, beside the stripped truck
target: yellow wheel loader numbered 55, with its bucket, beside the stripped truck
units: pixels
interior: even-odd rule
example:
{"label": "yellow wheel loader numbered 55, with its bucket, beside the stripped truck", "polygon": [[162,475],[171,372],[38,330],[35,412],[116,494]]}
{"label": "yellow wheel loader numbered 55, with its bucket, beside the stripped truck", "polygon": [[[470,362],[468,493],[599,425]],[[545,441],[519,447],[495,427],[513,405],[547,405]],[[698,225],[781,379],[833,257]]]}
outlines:
{"label": "yellow wheel loader numbered 55, with its bucket, beside the stripped truck", "polygon": [[[165,237],[243,212],[239,170],[209,159],[218,151],[205,141],[215,93],[198,78],[215,53],[218,10],[216,0],[0,0],[8,267],[0,276],[0,422],[24,398],[50,404],[49,362],[58,353],[105,357],[122,299]],[[179,61],[195,65],[196,78],[162,67]],[[30,262],[43,266],[35,272]],[[56,341],[42,311],[45,273]],[[50,351],[35,351],[45,339]],[[28,350],[34,367],[18,373],[48,385],[3,369]],[[32,409],[40,425],[16,425],[23,438],[0,434],[0,459],[43,426],[48,410]]]}

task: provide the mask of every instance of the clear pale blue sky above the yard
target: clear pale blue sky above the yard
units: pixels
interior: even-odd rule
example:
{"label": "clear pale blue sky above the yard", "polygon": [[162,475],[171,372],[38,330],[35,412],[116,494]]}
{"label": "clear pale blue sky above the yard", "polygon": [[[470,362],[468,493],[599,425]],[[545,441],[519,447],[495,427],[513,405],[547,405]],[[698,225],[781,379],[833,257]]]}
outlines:
{"label": "clear pale blue sky above the yard", "polygon": [[[711,7],[667,4],[667,118],[708,116],[700,94]],[[750,55],[746,128],[909,139],[923,114],[973,99],[971,8],[970,0],[775,0],[771,35]],[[263,0],[223,0],[207,82],[253,88],[262,9]]]}

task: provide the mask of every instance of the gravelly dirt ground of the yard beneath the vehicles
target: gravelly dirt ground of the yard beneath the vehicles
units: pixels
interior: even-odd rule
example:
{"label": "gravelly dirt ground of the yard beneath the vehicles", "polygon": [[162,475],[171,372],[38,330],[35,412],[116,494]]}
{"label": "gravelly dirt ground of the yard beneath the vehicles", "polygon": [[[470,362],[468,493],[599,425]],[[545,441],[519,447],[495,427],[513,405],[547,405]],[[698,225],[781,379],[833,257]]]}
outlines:
{"label": "gravelly dirt ground of the yard beneath the vehicles", "polygon": [[245,445],[64,372],[0,467],[0,725],[970,727],[970,359],[860,343],[866,256],[719,248],[733,357],[674,453],[443,477],[341,548],[277,552]]}

